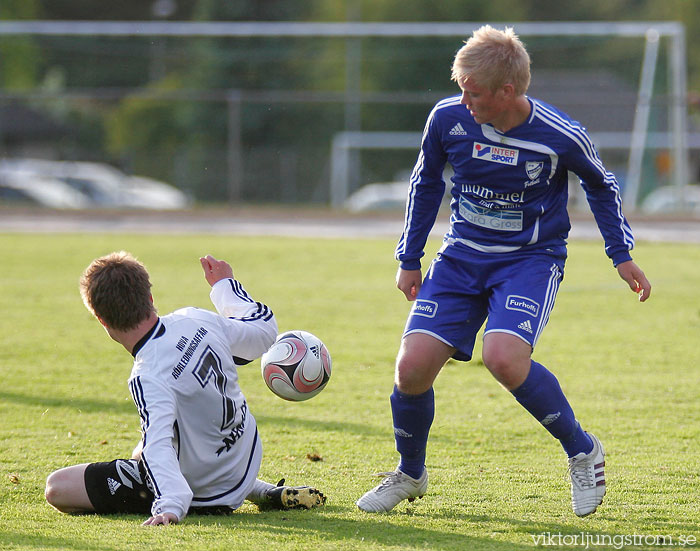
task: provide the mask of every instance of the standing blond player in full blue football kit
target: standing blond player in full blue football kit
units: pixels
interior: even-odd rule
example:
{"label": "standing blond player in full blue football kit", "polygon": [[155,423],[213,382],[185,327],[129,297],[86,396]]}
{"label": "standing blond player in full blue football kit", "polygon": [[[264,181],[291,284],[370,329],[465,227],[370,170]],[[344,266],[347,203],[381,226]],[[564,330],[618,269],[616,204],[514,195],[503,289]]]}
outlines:
{"label": "standing blond player in full blue football kit", "polygon": [[[641,301],[651,285],[630,256],[634,240],[615,177],[579,123],[526,95],[530,58],[513,30],[475,31],[455,56],[452,79],[462,94],[440,101],[428,117],[396,249],[397,286],[415,301],[391,395],[401,459],[357,505],[389,511],[425,494],[433,381],[450,357],[471,359],[488,320],[484,364],[560,441],[573,509],[585,516],[605,494],[603,446],[582,430],[556,377],[531,359],[563,277],[569,171],[581,178],[620,277]],[[423,279],[420,259],[443,197],[445,163],[454,169],[450,229]]]}

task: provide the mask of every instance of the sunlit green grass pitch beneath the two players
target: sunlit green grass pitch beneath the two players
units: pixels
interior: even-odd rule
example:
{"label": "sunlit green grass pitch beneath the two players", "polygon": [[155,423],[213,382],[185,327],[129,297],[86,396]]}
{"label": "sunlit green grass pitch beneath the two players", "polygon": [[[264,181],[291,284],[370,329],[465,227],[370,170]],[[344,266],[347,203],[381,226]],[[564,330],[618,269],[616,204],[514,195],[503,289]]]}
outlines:
{"label": "sunlit green grass pitch beneath the two players", "polygon": [[[700,537],[696,245],[638,245],[635,259],[654,285],[645,304],[600,244],[570,247],[535,358],[557,374],[608,451],[608,495],[595,515],[573,515],[559,444],[476,360],[449,363],[436,382],[429,494],[389,514],[358,511],[354,501],[375,484],[370,475],[397,461],[388,396],[409,305],[394,287],[393,246],[389,239],[0,235],[0,549],[462,551],[531,549],[543,533],[568,535],[565,543],[581,533],[618,544],[633,534],[674,543]],[[324,509],[261,513],[244,505],[228,517],[145,528],[138,516],[69,516],[46,504],[51,471],[123,457],[139,436],[126,387],[130,356],[77,290],[94,257],[119,249],[149,268],[163,313],[210,307],[197,259],[211,253],[273,308],[281,330],[306,329],[325,341],[333,376],[309,402],[272,395],[258,362],[240,372],[264,441],[261,476],[321,488]],[[313,453],[323,461],[310,461]]]}

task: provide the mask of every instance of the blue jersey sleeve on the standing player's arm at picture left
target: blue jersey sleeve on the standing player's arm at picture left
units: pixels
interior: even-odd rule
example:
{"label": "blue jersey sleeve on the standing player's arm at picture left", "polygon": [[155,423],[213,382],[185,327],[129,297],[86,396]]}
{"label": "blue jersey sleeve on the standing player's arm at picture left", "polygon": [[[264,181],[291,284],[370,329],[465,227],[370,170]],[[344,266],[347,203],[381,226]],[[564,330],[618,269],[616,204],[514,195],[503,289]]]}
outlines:
{"label": "blue jersey sleeve on the standing player's arm at picture left", "polygon": [[425,254],[425,244],[445,193],[442,174],[447,154],[434,115],[435,110],[428,117],[423,131],[420,152],[409,182],[403,233],[396,247],[396,259],[404,270],[420,269],[420,259]]}

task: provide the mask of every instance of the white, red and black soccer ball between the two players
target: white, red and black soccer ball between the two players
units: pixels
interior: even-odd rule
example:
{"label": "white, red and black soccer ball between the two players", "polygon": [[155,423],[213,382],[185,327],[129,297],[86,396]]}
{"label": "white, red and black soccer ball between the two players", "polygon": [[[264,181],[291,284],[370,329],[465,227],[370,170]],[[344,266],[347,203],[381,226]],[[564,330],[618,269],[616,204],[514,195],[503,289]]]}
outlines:
{"label": "white, red and black soccer ball between the two players", "polygon": [[260,365],[269,389],[292,402],[313,398],[331,377],[331,355],[326,345],[307,331],[279,335],[262,355]]}

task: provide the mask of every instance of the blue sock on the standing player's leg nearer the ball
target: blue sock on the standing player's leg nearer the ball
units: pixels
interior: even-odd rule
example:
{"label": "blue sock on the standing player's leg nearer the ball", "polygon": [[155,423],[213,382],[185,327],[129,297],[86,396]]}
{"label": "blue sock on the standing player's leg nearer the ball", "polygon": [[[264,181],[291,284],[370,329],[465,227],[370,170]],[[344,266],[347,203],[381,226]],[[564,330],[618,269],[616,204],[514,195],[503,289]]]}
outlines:
{"label": "blue sock on the standing player's leg nearer the ball", "polygon": [[412,478],[420,478],[425,468],[425,448],[430,425],[435,417],[435,395],[430,388],[423,394],[391,393],[396,450],[401,454],[399,469]]}

